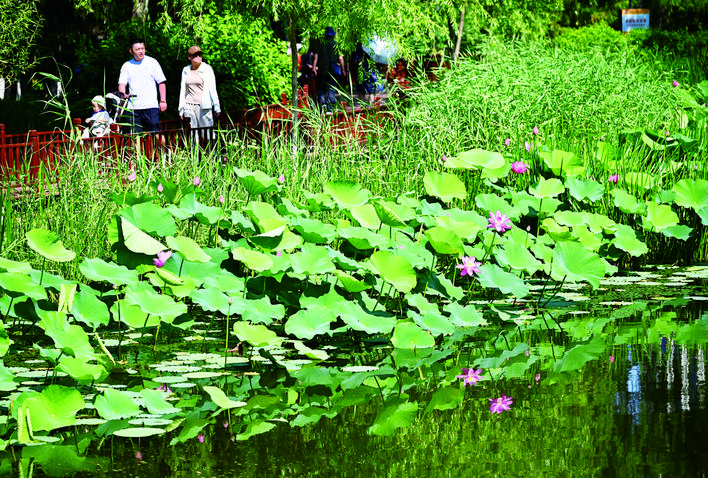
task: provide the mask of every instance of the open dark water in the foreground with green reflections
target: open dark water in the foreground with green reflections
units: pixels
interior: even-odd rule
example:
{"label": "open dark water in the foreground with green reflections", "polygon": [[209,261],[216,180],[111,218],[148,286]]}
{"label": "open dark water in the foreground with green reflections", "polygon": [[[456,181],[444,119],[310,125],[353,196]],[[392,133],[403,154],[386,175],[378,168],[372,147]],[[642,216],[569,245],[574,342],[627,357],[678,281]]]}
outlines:
{"label": "open dark water in the foreground with green reflections", "polygon": [[[80,464],[42,458],[42,447],[5,452],[3,476],[607,476],[690,477],[708,472],[705,347],[668,339],[619,345],[563,383],[543,375],[465,388],[461,407],[421,410],[393,436],[369,435],[372,400],[305,427],[277,423],[247,441],[217,419],[203,443],[169,436],[107,437],[74,447]],[[611,361],[610,356],[613,360]],[[513,397],[492,415],[488,398]],[[87,435],[88,436],[88,435]],[[174,436],[174,435],[171,435]],[[69,446],[71,448],[71,446]],[[34,450],[33,450],[34,449]],[[138,457],[136,454],[139,452]],[[77,471],[82,469],[82,471]],[[73,471],[72,471],[73,470]]]}

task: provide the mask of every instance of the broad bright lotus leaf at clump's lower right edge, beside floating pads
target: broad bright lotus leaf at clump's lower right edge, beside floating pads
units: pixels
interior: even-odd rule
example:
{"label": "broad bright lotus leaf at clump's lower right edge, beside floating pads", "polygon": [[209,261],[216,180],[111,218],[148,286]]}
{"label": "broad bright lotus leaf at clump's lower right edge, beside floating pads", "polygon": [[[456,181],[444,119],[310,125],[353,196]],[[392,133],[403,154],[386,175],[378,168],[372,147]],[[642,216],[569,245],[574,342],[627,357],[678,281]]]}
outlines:
{"label": "broad bright lotus leaf at clump's lower right edge, beside floating pads", "polygon": [[605,277],[605,261],[579,242],[561,241],[553,249],[551,275],[556,280],[587,281],[593,288]]}

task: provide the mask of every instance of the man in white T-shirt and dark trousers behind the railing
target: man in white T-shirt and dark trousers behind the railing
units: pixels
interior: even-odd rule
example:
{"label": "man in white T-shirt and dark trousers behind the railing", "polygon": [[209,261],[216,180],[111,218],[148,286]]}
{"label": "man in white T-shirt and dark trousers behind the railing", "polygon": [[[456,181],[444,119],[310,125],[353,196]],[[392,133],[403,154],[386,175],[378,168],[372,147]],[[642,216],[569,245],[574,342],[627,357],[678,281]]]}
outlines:
{"label": "man in white T-shirt and dark trousers behind the railing", "polygon": [[134,133],[160,131],[160,112],[167,109],[167,88],[164,73],[154,58],[145,55],[145,43],[132,41],[133,59],[123,63],[118,77],[118,91],[132,96]]}

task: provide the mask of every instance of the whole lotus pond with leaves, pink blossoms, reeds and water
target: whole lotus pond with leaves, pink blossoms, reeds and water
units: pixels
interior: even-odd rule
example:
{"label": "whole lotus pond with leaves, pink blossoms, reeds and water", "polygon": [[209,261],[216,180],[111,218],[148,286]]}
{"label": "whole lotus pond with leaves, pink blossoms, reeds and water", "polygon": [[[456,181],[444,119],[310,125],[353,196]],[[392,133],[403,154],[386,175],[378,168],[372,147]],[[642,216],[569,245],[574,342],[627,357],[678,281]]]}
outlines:
{"label": "whole lotus pond with leaves, pink blossoms, reeds and water", "polygon": [[[543,58],[620,98],[610,57]],[[0,474],[704,474],[708,82],[651,76],[624,130],[570,87],[509,100],[488,60],[461,68],[514,81],[443,78],[284,172],[226,138],[3,196]]]}

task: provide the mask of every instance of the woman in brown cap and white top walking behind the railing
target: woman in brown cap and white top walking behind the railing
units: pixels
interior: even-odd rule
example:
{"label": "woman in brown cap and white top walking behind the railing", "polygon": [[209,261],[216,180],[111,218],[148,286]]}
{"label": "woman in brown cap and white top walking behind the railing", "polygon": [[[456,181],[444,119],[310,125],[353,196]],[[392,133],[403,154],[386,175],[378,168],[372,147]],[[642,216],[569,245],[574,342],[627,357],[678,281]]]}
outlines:
{"label": "woman in brown cap and white top walking behind the railing", "polygon": [[192,128],[214,126],[214,115],[218,119],[221,114],[214,70],[202,61],[202,49],[198,46],[191,47],[187,57],[191,65],[182,70],[179,116],[182,119],[189,118]]}

